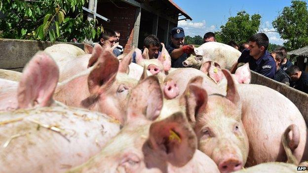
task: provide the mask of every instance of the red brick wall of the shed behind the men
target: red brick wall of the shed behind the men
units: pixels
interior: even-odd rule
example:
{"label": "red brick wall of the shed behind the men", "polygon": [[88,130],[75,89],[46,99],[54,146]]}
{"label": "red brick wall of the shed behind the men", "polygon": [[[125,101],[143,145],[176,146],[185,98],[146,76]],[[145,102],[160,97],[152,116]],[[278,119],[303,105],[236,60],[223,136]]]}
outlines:
{"label": "red brick wall of the shed behind the men", "polygon": [[110,19],[110,23],[98,19],[99,25],[104,28],[117,30],[120,32],[119,44],[124,47],[124,53],[128,53],[132,49],[134,25],[135,25],[136,7],[125,2],[115,1],[100,2],[97,4],[97,13]]}

